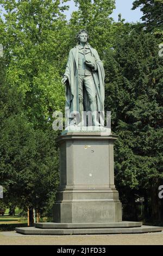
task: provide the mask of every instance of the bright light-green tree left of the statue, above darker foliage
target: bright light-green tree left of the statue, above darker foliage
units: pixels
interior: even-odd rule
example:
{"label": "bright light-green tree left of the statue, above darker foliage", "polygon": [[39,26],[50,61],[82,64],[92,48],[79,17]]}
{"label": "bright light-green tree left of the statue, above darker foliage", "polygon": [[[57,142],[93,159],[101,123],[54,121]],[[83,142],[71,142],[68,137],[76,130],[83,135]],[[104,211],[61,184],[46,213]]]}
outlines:
{"label": "bright light-green tree left of the statue, above darker foliage", "polygon": [[[7,83],[22,93],[24,111],[36,127],[64,108],[63,72],[67,7],[60,1],[0,1],[7,11],[1,34],[8,59]],[[68,38],[68,36],[67,36]],[[44,129],[44,128],[43,128]]]}

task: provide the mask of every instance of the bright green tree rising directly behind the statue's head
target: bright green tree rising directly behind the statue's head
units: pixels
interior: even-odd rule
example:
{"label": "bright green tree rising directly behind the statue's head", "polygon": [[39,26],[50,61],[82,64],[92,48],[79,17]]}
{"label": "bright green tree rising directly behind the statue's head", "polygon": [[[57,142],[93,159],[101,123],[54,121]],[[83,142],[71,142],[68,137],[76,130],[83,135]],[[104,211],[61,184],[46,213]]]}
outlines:
{"label": "bright green tree rising directly behind the statue's head", "polygon": [[78,10],[72,13],[70,20],[72,38],[75,38],[80,29],[86,29],[90,44],[97,49],[99,56],[103,57],[105,49],[111,47],[110,15],[115,8],[115,0],[75,0],[74,2]]}

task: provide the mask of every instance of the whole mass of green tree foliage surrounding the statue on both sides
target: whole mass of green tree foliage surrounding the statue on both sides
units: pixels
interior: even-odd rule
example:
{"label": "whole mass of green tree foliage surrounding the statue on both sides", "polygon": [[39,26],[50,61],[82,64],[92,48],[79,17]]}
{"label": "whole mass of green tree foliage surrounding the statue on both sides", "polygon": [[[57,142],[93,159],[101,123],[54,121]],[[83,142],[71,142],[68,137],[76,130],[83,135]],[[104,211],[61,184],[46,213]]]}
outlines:
{"label": "whole mass of green tree foliage surrounding the statue on both sides", "polygon": [[59,182],[52,113],[64,110],[61,76],[76,34],[85,28],[105,66],[105,110],[119,136],[115,175],[122,202],[134,211],[135,199],[145,196],[154,205],[163,176],[162,0],[135,1],[133,9],[141,6],[144,21],[135,25],[121,15],[112,20],[115,0],[75,0],[78,10],[67,22],[66,2],[0,0],[6,11],[0,19],[3,203],[51,215]]}

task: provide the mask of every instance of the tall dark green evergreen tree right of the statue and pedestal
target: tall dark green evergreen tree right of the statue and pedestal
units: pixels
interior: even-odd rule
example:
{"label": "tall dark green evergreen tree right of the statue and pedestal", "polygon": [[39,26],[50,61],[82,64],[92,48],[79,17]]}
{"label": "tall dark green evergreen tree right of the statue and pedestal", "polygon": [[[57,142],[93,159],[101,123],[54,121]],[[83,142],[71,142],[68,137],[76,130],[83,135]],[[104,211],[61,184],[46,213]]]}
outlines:
{"label": "tall dark green evergreen tree right of the statue and pedestal", "polygon": [[105,109],[111,110],[112,130],[119,136],[115,174],[122,202],[130,202],[135,209],[136,197],[146,196],[156,220],[160,209],[157,190],[163,178],[163,63],[158,40],[138,29],[130,27],[123,37],[117,35],[114,51],[108,50],[105,56]]}

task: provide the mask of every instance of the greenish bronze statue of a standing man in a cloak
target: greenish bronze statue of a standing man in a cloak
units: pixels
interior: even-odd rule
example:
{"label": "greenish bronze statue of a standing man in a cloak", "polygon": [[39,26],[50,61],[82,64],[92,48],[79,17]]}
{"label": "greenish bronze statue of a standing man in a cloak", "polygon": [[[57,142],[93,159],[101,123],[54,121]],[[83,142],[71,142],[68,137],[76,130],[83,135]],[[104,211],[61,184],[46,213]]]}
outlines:
{"label": "greenish bronze statue of a standing man in a cloak", "polygon": [[78,35],[78,45],[70,50],[62,83],[66,83],[66,107],[68,117],[79,112],[91,111],[93,125],[99,126],[96,112],[104,111],[103,63],[97,51],[88,44],[87,32],[82,29]]}

